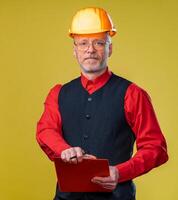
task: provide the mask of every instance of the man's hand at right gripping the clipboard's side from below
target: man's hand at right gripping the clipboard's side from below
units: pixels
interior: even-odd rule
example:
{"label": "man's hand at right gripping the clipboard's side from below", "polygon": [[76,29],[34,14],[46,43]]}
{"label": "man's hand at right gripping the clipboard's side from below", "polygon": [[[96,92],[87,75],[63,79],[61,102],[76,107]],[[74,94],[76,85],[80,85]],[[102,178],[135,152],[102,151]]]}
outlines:
{"label": "man's hand at right gripping the clipboard's side from below", "polygon": [[108,177],[94,177],[92,182],[101,185],[103,188],[114,190],[118,184],[119,172],[116,167],[109,167],[110,176]]}

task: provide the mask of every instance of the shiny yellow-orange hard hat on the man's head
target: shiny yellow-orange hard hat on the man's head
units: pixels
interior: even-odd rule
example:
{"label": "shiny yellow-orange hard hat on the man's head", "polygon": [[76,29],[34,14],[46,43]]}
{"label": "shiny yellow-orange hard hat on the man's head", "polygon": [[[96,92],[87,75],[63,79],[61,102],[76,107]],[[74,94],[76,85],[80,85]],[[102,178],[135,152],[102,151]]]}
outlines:
{"label": "shiny yellow-orange hard hat on the man's head", "polygon": [[92,34],[108,32],[110,36],[116,34],[116,29],[109,14],[102,8],[84,8],[73,17],[69,35]]}

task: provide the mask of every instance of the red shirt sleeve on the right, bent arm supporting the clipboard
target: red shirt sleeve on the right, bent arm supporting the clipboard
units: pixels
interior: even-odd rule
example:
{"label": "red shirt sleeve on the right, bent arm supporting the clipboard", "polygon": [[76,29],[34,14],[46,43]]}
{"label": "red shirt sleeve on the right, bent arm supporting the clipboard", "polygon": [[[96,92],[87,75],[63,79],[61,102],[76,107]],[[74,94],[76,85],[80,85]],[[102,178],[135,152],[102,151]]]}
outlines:
{"label": "red shirt sleeve on the right, bent arm supporting the clipboard", "polygon": [[167,145],[148,94],[131,84],[125,95],[125,116],[136,137],[136,154],[118,164],[119,182],[133,179],[168,160]]}

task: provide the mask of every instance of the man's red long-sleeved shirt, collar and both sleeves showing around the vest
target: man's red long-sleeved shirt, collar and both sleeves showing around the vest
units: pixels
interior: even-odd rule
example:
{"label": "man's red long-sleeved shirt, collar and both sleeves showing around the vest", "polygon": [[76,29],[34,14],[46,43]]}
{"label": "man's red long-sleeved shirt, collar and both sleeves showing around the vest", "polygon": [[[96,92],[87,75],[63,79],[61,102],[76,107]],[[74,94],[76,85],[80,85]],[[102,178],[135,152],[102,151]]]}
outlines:
{"label": "man's red long-sleeved shirt, collar and both sleeves showing around the vest", "polygon": [[[92,81],[81,74],[82,86],[92,94],[106,84],[111,74],[107,69]],[[44,112],[37,124],[37,141],[51,160],[71,147],[62,137],[62,119],[58,109],[61,87],[62,85],[56,85],[49,92]],[[116,165],[119,182],[133,179],[168,160],[166,141],[148,94],[132,83],[124,100],[125,116],[135,134],[137,152],[130,160]]]}

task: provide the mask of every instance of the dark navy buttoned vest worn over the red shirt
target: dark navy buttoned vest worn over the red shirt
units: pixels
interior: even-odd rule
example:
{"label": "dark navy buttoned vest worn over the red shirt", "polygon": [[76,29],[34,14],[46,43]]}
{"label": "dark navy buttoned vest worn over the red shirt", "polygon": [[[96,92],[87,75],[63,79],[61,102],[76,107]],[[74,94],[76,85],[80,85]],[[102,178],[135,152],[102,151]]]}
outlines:
{"label": "dark navy buttoned vest worn over the red shirt", "polygon": [[[124,97],[130,84],[112,74],[109,81],[91,95],[83,88],[80,77],[63,85],[58,102],[65,141],[88,154],[108,159],[110,165],[129,160],[135,137],[125,119]],[[118,184],[112,193],[62,193],[57,188],[55,200],[59,197],[134,200],[135,187],[132,181],[127,181]]]}

